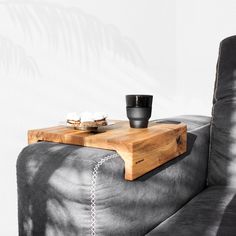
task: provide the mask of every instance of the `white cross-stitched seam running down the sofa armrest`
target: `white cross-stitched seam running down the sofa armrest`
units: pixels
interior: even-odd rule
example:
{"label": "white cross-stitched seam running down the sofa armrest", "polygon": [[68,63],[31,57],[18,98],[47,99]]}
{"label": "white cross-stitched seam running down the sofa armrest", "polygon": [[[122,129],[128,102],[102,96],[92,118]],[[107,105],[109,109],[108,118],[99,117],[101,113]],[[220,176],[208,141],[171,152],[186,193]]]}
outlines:
{"label": "white cross-stitched seam running down the sofa armrest", "polygon": [[92,173],[92,184],[91,184],[91,189],[90,189],[90,206],[91,206],[91,225],[90,225],[90,232],[91,236],[96,236],[95,232],[95,224],[96,224],[96,183],[97,183],[97,177],[98,177],[98,170],[99,168],[103,165],[104,162],[111,160],[115,157],[118,157],[119,155],[117,153],[105,156],[104,158],[100,159],[99,162],[95,165],[93,168],[93,173]]}

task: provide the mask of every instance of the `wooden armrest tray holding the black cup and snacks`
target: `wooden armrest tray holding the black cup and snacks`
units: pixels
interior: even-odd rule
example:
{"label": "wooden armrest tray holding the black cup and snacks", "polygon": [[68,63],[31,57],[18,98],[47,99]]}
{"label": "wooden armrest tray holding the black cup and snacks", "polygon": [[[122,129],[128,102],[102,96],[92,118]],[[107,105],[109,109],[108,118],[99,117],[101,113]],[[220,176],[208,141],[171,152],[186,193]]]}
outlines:
{"label": "wooden armrest tray holding the black cup and snacks", "polygon": [[38,141],[115,150],[125,162],[125,179],[134,180],[186,152],[187,127],[153,121],[146,129],[132,129],[128,121],[119,121],[97,133],[63,125],[29,130],[29,144]]}

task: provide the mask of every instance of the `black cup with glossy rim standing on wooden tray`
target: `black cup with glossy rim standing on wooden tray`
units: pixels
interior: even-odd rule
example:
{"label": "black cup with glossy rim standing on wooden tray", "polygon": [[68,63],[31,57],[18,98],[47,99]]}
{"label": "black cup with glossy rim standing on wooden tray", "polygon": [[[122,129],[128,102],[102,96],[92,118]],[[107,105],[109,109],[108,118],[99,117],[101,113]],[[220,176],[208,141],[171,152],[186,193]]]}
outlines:
{"label": "black cup with glossy rim standing on wooden tray", "polygon": [[147,128],[152,114],[152,95],[126,95],[126,111],[131,128]]}

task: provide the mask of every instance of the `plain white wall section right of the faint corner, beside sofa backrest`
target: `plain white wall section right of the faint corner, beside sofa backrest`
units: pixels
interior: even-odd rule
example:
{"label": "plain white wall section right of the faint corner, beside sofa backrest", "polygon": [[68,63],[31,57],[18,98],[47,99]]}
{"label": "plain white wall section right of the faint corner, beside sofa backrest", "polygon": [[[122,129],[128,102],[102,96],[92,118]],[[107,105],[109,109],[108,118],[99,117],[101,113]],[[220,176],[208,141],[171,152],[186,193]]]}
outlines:
{"label": "plain white wall section right of the faint corner, beside sofa backrest", "polygon": [[176,16],[179,111],[208,115],[219,43],[236,34],[236,1],[178,0]]}

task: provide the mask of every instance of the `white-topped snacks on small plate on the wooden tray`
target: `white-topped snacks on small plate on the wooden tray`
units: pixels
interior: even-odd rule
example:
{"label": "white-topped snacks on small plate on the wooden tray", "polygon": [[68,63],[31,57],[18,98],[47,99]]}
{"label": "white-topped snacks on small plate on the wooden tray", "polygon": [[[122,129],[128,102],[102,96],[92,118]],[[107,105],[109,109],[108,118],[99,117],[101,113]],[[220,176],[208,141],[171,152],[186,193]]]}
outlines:
{"label": "white-topped snacks on small plate on the wooden tray", "polygon": [[89,129],[107,125],[107,115],[102,112],[76,112],[67,115],[67,125],[74,128]]}

